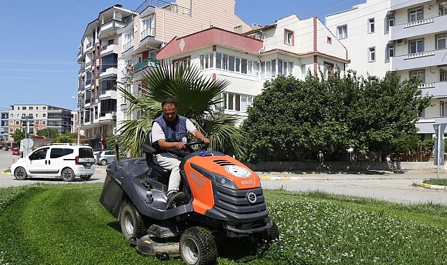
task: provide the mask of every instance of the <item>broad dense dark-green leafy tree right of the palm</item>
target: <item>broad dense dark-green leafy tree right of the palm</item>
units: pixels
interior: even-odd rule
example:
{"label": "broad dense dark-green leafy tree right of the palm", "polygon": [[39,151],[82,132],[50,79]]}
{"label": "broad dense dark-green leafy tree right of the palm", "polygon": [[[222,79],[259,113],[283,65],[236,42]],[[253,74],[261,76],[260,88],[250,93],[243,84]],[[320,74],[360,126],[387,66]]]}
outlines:
{"label": "broad dense dark-green leafy tree right of the palm", "polygon": [[279,77],[264,84],[243,122],[248,160],[314,158],[318,151],[391,152],[395,139],[416,134],[416,116],[430,105],[420,80],[357,77],[340,71],[324,79]]}

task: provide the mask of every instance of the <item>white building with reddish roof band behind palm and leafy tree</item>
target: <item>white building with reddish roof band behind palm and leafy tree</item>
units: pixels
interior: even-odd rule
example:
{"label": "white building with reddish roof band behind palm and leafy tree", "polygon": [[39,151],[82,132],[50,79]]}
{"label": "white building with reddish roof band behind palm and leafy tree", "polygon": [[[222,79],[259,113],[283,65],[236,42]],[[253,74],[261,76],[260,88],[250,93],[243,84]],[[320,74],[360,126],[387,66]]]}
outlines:
{"label": "white building with reddish roof band behind palm and leafy tree", "polygon": [[278,75],[304,79],[308,71],[328,77],[336,69],[344,73],[349,63],[347,50],[317,17],[299,20],[296,15],[243,34],[212,27],[173,38],[157,58],[172,67],[197,65],[206,76],[229,80],[222,107],[240,121],[266,80]]}

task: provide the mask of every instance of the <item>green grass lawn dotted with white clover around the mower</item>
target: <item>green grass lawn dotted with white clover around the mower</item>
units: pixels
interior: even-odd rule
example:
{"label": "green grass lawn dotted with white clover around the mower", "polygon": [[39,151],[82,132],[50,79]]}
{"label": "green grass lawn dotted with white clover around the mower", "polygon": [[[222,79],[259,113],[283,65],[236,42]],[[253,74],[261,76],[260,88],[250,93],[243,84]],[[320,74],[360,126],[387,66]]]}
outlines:
{"label": "green grass lawn dotted with white clover around the mower", "polygon": [[[181,264],[139,255],[98,202],[102,183],[0,189],[0,264]],[[446,264],[447,207],[266,190],[270,248],[220,244],[218,264]]]}

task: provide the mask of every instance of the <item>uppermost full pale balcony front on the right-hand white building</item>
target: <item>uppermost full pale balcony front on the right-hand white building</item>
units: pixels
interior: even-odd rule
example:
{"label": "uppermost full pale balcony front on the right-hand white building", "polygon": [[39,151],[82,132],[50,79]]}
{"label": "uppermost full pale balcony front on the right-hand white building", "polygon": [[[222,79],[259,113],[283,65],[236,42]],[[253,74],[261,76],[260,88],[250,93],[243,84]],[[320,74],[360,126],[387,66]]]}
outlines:
{"label": "uppermost full pale balcony front on the right-hand white building", "polygon": [[396,25],[390,28],[391,40],[413,38],[446,31],[447,15],[429,17],[415,22]]}

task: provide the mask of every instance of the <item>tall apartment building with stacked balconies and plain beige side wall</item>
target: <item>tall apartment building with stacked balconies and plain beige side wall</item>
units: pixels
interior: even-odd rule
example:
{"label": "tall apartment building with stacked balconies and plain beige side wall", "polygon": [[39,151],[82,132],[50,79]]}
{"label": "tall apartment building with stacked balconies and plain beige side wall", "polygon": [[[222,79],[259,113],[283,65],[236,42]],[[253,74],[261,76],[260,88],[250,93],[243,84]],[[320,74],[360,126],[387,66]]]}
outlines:
{"label": "tall apartment building with stacked balconies and plain beige side wall", "polygon": [[[217,26],[230,31],[250,27],[234,14],[235,0],[144,1],[135,10],[115,5],[86,27],[79,45],[80,126],[86,137],[116,132],[127,103],[117,88],[138,91],[144,70],[158,66],[156,52],[174,36]],[[118,122],[117,122],[118,121]]]}

